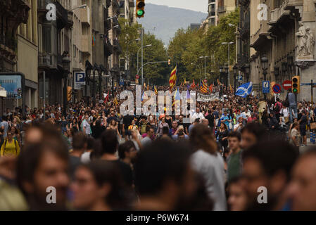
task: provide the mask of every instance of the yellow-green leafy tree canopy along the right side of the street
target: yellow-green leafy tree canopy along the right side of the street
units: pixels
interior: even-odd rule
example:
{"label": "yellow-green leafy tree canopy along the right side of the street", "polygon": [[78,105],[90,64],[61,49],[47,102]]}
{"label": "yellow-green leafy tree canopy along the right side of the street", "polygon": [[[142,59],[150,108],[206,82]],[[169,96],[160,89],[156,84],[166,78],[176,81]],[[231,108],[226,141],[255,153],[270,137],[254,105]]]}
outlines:
{"label": "yellow-green leafy tree canopy along the right side of the street", "polygon": [[[214,82],[219,75],[220,65],[227,63],[227,45],[222,42],[235,42],[235,27],[239,22],[239,9],[222,16],[217,26],[210,26],[208,32],[203,30],[179,29],[170,41],[168,54],[178,65],[178,77],[192,81],[204,78],[204,59],[200,56],[210,56],[206,63],[206,77]],[[229,64],[236,57],[235,46],[230,46]]]}

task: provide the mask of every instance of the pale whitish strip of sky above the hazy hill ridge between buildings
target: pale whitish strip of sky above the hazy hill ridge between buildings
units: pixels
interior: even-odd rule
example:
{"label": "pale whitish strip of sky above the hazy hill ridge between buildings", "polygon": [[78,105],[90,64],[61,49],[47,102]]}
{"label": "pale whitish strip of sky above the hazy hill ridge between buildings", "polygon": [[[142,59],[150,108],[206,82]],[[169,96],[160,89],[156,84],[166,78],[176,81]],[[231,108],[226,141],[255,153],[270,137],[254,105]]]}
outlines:
{"label": "pale whitish strip of sky above the hazy hill ridge between buildings", "polygon": [[146,0],[146,3],[208,13],[208,0]]}

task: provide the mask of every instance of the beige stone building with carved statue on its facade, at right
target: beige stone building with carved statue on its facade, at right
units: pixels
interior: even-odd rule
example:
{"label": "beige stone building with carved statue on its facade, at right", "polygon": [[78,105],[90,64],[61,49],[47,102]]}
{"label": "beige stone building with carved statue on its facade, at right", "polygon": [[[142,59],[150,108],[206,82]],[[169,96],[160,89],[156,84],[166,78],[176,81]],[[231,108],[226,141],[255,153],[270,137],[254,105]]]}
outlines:
{"label": "beige stone building with carved statue on its facade, at right", "polygon": [[[258,4],[267,6],[267,18],[258,20]],[[303,84],[316,80],[315,2],[252,0],[249,7],[251,81],[258,86],[261,86],[264,79],[282,85],[285,80],[291,80],[293,75],[299,75]],[[266,77],[263,75],[263,56],[268,59]],[[315,95],[316,90],[313,92]],[[281,97],[285,96],[286,91],[282,91]],[[298,101],[303,99],[311,101],[310,86],[301,86]]]}

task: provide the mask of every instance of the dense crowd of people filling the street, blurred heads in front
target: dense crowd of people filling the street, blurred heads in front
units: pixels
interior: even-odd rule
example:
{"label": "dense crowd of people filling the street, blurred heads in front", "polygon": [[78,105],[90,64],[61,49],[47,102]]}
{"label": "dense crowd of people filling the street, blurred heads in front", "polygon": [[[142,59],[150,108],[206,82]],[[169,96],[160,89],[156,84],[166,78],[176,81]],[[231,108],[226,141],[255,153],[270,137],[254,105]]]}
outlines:
{"label": "dense crowd of people filling the street, blurred heads in front", "polygon": [[315,143],[312,103],[297,104],[291,90],[265,101],[217,86],[222,98],[189,115],[174,106],[172,115],[122,115],[124,90],[134,87],[69,103],[66,114],[60,104],[7,109],[0,210],[316,210],[316,148],[300,151],[308,135]]}

